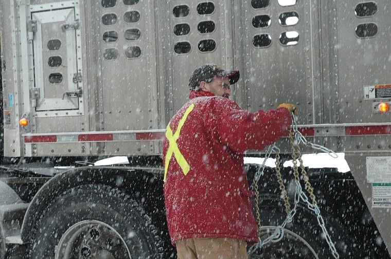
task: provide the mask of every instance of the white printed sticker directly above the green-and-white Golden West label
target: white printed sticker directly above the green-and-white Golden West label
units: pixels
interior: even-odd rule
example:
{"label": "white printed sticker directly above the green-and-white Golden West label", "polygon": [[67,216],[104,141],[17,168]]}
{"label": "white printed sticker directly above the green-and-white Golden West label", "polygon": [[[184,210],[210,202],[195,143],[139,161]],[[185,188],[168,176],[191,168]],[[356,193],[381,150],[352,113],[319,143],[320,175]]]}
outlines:
{"label": "white printed sticker directly above the green-and-white Golden West label", "polygon": [[366,157],[368,183],[391,183],[391,156]]}

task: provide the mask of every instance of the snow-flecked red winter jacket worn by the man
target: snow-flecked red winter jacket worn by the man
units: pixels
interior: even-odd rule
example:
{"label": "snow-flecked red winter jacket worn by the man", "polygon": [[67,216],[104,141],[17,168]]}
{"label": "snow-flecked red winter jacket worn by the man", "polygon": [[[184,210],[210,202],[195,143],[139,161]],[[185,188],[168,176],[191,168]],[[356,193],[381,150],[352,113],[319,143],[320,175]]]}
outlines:
{"label": "snow-flecked red winter jacket worn by the man", "polygon": [[[185,175],[172,154],[164,184],[171,242],[175,246],[187,238],[227,237],[256,243],[243,152],[262,150],[286,135],[291,115],[286,108],[251,113],[228,98],[192,91],[190,101],[171,119],[172,133],[192,104],[176,141],[190,170]],[[169,146],[166,138],[163,161]]]}

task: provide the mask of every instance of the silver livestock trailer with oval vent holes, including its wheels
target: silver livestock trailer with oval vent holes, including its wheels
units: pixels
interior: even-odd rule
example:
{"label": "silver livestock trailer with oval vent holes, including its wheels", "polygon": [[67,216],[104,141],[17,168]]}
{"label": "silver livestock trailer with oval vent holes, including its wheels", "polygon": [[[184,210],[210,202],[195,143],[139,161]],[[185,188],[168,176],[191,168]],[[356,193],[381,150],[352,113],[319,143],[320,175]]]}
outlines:
{"label": "silver livestock trailer with oval vent holes, including its wheels", "polygon": [[[390,16],[387,0],[1,1],[0,259],[175,258],[162,140],[204,63],[240,70],[242,108],[295,103],[306,139],[345,153],[349,172],[308,170],[332,244],[340,258],[390,258]],[[120,155],[129,165],[88,166]],[[267,229],[286,217],[273,172],[259,183]],[[298,208],[251,258],[337,257]]]}

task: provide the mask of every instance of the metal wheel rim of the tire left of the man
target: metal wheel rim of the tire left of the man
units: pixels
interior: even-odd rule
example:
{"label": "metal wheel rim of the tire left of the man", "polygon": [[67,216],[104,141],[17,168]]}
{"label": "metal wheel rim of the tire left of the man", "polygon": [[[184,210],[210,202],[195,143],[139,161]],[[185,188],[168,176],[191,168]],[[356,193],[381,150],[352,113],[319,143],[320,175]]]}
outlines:
{"label": "metal wheel rim of the tire left of the man", "polygon": [[121,235],[111,226],[94,220],[69,227],[56,246],[55,259],[131,259]]}

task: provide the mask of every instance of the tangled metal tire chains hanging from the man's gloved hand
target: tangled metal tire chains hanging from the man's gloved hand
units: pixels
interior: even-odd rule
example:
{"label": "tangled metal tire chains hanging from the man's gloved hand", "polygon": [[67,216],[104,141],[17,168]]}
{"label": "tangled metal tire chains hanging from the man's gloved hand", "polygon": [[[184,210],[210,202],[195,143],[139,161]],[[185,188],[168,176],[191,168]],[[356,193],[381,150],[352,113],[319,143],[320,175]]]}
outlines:
{"label": "tangled metal tire chains hanging from the man's gloved hand", "polygon": [[[293,132],[295,133],[296,143],[293,140]],[[329,235],[329,233],[328,233],[328,231],[326,229],[326,224],[325,224],[325,221],[324,221],[324,219],[323,219],[323,217],[321,215],[321,210],[317,206],[314,190],[313,190],[313,188],[312,188],[312,186],[311,186],[311,184],[309,182],[309,178],[307,176],[307,171],[306,171],[306,169],[304,167],[303,158],[302,158],[302,155],[301,155],[301,150],[300,150],[299,144],[303,143],[304,145],[309,145],[310,147],[312,147],[314,149],[325,151],[330,156],[332,156],[334,158],[336,158],[338,155],[334,151],[332,151],[332,150],[330,150],[330,149],[328,149],[326,147],[323,147],[323,146],[320,146],[320,145],[308,142],[306,140],[306,138],[298,131],[296,120],[295,120],[295,117],[294,117],[293,114],[292,114],[292,130],[289,131],[289,143],[290,143],[291,151],[292,151],[291,155],[292,155],[292,162],[293,162],[294,182],[296,184],[296,190],[295,190],[295,195],[294,195],[294,208],[291,210],[290,203],[289,203],[289,198],[288,198],[288,193],[287,193],[285,184],[283,183],[282,176],[281,176],[280,156],[279,156],[279,151],[280,150],[275,145],[272,145],[272,146],[270,146],[268,148],[268,151],[266,152],[265,159],[264,159],[264,161],[262,163],[262,166],[261,166],[262,169],[261,168],[258,169],[258,172],[255,175],[254,180],[253,180],[253,189],[254,189],[254,192],[256,194],[255,206],[256,206],[257,227],[258,227],[258,236],[259,236],[258,237],[258,241],[259,242],[257,244],[255,244],[254,246],[250,247],[250,249],[248,250],[247,254],[250,256],[257,249],[261,250],[264,245],[266,245],[266,244],[268,244],[270,242],[275,243],[275,242],[280,241],[283,238],[284,228],[286,227],[286,225],[288,223],[293,221],[293,217],[294,217],[294,215],[297,212],[298,203],[301,200],[305,204],[307,204],[307,207],[310,210],[312,210],[315,213],[318,225],[321,227],[323,233],[325,234],[326,242],[329,245],[329,248],[330,248],[330,250],[332,252],[332,255],[334,256],[334,258],[339,259],[340,255],[336,251],[334,243],[332,242],[331,237],[330,237],[330,235]],[[287,212],[288,215],[287,215],[285,221],[283,221],[283,223],[280,226],[276,227],[276,230],[273,232],[273,234],[269,235],[268,237],[266,237],[262,241],[261,238],[260,238],[260,235],[261,235],[261,219],[260,219],[259,203],[258,203],[258,200],[259,200],[258,181],[259,181],[260,175],[264,171],[265,162],[270,157],[271,152],[273,150],[276,152],[276,176],[277,176],[277,182],[279,183],[279,187],[280,187],[281,193],[283,194],[284,205],[285,205],[285,209],[286,209],[286,212]],[[297,154],[297,156],[296,156],[296,154]],[[309,202],[308,196],[304,193],[303,188],[300,185],[300,176],[299,176],[299,172],[298,172],[297,161],[300,164],[301,175],[303,176],[303,180],[305,182],[305,187],[306,187],[306,190],[307,190],[308,194],[310,195],[310,199],[312,201],[312,204]]]}

